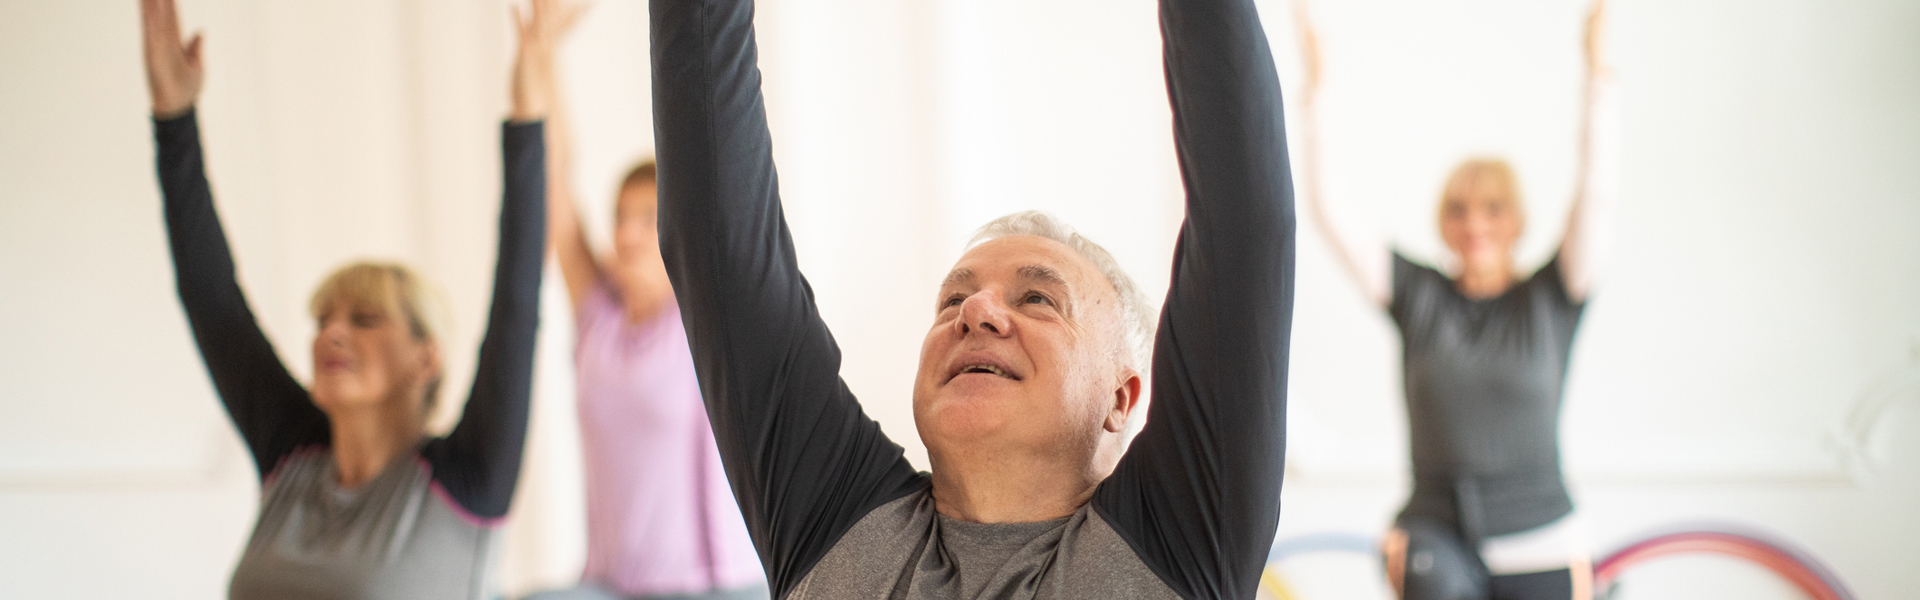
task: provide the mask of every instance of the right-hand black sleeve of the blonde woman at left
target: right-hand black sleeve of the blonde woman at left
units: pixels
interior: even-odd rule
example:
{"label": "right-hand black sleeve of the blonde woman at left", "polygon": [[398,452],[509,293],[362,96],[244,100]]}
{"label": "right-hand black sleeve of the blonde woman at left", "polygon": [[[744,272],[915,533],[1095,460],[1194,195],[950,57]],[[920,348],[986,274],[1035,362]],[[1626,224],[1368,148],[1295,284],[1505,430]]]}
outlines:
{"label": "right-hand black sleeve of the blonde woman at left", "polygon": [[474,387],[461,423],[420,450],[453,502],[499,519],[513,502],[534,392],[540,269],[547,244],[547,152],[541,123],[501,127],[507,187],[499,208],[499,258]]}

